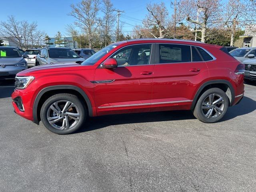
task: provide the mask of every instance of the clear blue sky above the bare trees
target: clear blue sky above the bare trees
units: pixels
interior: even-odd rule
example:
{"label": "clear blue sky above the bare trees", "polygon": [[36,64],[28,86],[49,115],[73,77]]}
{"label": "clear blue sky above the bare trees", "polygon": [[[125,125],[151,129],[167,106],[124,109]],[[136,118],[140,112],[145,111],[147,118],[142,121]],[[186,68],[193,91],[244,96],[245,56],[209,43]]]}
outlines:
{"label": "clear blue sky above the bare trees", "polygon": [[[3,1],[3,0],[1,0]],[[70,4],[77,4],[81,0],[6,0],[1,3],[0,21],[7,20],[8,16],[13,15],[16,20],[27,20],[28,22],[37,22],[38,29],[46,32],[50,37],[60,31],[64,36],[68,36],[66,26],[74,23],[75,19],[68,16],[71,8]],[[170,6],[171,0],[112,0],[116,9],[124,11],[120,17],[123,24],[122,31],[132,31],[136,24],[140,24],[141,20],[147,14],[146,4],[164,2],[170,13],[173,9]],[[101,15],[99,15],[101,16]],[[132,17],[132,18],[127,18]]]}

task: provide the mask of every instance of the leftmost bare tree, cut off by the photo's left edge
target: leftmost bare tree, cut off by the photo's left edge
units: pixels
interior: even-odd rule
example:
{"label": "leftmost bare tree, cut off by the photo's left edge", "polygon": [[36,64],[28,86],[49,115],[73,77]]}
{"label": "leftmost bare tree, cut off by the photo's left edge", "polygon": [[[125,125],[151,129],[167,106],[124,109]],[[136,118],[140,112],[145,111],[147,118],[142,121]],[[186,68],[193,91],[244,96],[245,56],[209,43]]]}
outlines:
{"label": "leftmost bare tree, cut off by the photo's left edge", "polygon": [[22,48],[21,22],[17,21],[14,16],[8,16],[8,20],[6,22],[1,22],[0,25],[0,35]]}

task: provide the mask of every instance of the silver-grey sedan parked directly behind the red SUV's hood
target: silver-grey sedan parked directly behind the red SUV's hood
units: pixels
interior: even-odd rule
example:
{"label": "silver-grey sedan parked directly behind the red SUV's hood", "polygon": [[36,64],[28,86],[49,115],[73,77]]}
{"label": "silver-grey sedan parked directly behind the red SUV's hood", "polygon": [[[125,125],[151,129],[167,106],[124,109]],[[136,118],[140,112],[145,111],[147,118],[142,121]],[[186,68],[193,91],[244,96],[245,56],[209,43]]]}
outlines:
{"label": "silver-grey sedan parked directly behind the red SUV's hood", "polygon": [[81,58],[74,50],[61,47],[42,48],[36,55],[36,65],[54,64],[62,62],[82,63],[84,58]]}

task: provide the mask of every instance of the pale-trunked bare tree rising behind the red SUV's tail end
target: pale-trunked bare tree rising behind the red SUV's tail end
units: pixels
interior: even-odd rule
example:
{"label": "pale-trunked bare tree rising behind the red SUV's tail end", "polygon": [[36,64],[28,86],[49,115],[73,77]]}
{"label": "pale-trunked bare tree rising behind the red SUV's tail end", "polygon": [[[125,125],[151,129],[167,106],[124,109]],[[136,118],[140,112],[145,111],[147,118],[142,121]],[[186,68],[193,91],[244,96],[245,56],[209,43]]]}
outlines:
{"label": "pale-trunked bare tree rising behind the red SUV's tail end", "polygon": [[239,22],[239,18],[246,14],[246,5],[241,0],[229,0],[225,6],[225,26],[230,33],[230,46],[234,45],[234,35],[236,34],[237,28],[242,25]]}

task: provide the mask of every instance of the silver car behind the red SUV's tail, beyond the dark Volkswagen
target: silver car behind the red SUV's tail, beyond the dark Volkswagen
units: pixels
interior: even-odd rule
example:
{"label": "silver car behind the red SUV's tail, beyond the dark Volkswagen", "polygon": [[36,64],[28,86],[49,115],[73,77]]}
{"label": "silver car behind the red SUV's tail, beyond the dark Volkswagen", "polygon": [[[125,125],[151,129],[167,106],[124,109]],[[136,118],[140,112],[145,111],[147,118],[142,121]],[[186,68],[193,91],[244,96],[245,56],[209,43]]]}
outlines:
{"label": "silver car behind the red SUV's tail, beyond the dark Volkswagen", "polygon": [[252,59],[256,56],[256,47],[237,48],[229,53],[238,61],[243,62],[246,59]]}

